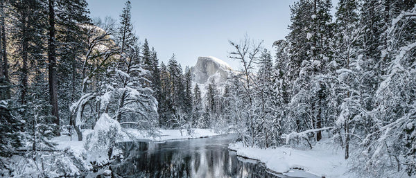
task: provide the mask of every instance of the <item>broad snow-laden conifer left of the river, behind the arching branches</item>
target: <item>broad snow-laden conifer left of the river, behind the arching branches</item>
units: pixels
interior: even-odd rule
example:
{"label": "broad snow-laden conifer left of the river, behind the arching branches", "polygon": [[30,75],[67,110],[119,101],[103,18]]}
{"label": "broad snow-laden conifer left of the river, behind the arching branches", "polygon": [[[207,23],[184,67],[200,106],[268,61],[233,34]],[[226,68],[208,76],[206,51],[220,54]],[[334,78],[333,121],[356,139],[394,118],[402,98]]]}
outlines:
{"label": "broad snow-laden conifer left of the river, behind the arching branches", "polygon": [[157,101],[153,90],[146,86],[148,71],[139,61],[139,46],[125,50],[123,61],[110,73],[114,97],[118,105],[114,108],[114,118],[123,122],[137,123],[137,128],[155,133],[157,125]]}

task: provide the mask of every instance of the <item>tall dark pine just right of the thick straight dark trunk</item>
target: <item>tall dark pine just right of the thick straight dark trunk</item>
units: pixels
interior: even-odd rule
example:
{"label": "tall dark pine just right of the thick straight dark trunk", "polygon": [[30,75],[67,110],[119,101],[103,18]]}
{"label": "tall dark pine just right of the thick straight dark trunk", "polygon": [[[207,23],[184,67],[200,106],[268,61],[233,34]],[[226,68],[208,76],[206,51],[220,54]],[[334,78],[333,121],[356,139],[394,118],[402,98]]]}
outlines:
{"label": "tall dark pine just right of the thick straight dark trunk", "polygon": [[79,72],[83,66],[83,55],[88,44],[88,28],[92,26],[87,10],[87,2],[57,1],[56,2],[56,29],[55,40],[57,64],[58,103],[62,127],[71,123],[69,106],[81,96],[79,83],[83,82]]}

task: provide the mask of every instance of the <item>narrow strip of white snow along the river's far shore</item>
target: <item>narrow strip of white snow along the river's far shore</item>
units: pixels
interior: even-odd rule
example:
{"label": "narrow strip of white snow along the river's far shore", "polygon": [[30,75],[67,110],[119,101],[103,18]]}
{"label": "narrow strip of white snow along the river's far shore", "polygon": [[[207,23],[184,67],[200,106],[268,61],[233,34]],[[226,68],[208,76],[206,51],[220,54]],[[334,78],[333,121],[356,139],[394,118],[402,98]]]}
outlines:
{"label": "narrow strip of white snow along the river's far shore", "polygon": [[[216,136],[218,133],[215,133],[214,130],[209,129],[193,129],[191,133],[187,130],[159,130],[160,136],[144,136],[139,130],[135,129],[125,129],[123,130],[128,136],[123,137],[123,141],[132,141],[132,140],[151,140],[151,141],[170,141],[170,140],[180,140],[180,139],[198,139],[207,136]],[[133,136],[131,138],[131,136]]]}

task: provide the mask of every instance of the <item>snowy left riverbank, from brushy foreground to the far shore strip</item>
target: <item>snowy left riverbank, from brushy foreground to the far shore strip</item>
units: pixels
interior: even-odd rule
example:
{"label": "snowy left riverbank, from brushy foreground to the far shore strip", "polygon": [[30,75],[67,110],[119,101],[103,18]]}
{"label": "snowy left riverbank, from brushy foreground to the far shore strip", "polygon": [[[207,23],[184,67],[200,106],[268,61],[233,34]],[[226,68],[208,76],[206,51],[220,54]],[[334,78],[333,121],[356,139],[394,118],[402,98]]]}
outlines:
{"label": "snowy left riverbank, from brushy foreground to the far shore strip", "polygon": [[[62,135],[51,139],[55,143],[53,150],[47,152],[40,151],[36,157],[32,154],[14,155],[9,159],[0,157],[0,161],[3,161],[7,168],[0,167],[0,177],[60,177],[60,176],[80,176],[83,171],[91,170],[92,164],[89,163],[89,156],[92,154],[85,149],[85,141],[87,135],[94,132],[94,130],[83,130],[83,141],[78,141],[76,135],[70,136]],[[198,139],[209,136],[216,136],[217,133],[214,130],[208,129],[193,129],[191,132],[188,130],[159,130],[159,136],[145,136],[138,130],[134,129],[122,129],[121,137],[117,139],[121,141],[170,141],[179,139]],[[30,145],[22,147],[21,150],[30,150]],[[121,150],[114,150],[113,155],[119,154]],[[102,157],[102,164],[110,163],[105,155],[94,155]],[[59,158],[59,159],[55,159]]]}

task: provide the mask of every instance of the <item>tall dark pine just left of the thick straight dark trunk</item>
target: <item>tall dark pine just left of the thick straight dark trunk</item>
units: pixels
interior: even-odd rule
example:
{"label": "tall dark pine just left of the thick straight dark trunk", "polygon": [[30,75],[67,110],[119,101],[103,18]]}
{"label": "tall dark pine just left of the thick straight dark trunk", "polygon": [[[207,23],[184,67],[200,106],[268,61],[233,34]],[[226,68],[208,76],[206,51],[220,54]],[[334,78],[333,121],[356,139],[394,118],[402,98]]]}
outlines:
{"label": "tall dark pine just left of the thick straight dark trunk", "polygon": [[[15,60],[19,67],[16,67],[14,72],[18,75],[17,92],[20,93],[19,96],[14,95],[15,97],[12,98],[15,101],[19,100],[19,105],[15,106],[17,110],[12,116],[19,118],[20,123],[24,123],[24,131],[26,131],[24,136],[31,143],[33,151],[53,148],[49,139],[53,136],[53,132],[57,131],[55,119],[51,116],[51,105],[47,102],[49,98],[45,97],[47,84],[44,72],[47,65],[43,55],[46,41],[43,5],[43,1],[11,1],[9,6],[10,16],[15,19],[10,23],[13,40],[9,45],[18,48],[13,57],[19,59]],[[3,54],[6,60],[7,54]]]}

